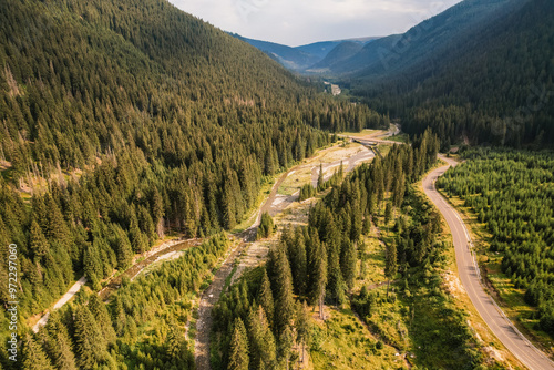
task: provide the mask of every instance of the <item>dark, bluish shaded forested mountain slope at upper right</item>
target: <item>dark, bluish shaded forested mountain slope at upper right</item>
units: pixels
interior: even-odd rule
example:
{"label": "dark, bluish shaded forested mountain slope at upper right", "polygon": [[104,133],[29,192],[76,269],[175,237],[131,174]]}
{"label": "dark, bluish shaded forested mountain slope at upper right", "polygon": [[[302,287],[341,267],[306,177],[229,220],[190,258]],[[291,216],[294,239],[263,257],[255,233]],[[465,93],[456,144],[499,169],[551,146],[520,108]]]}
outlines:
{"label": "dark, bluish shaded forested mountain slope at upper right", "polygon": [[404,131],[431,126],[444,146],[462,138],[548,146],[553,14],[548,0],[466,0],[417,25],[346,80],[372,106],[401,117]]}

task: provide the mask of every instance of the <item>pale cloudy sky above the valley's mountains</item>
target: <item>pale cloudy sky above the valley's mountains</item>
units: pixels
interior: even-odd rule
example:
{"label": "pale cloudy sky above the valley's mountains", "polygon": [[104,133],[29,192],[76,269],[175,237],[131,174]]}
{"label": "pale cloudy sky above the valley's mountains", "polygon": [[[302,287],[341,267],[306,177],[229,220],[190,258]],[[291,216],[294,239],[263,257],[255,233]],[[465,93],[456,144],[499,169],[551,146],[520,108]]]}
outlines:
{"label": "pale cloudy sky above the valley's mountains", "polygon": [[290,47],[403,33],[460,0],[170,0],[224,31]]}

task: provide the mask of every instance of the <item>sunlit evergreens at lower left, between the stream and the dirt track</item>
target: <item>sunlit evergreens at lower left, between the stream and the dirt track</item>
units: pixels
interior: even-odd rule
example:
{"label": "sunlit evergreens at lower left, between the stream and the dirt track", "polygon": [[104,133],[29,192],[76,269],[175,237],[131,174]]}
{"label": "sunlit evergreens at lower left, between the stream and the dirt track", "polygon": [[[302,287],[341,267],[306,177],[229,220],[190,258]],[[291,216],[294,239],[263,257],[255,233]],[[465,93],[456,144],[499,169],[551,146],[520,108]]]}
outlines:
{"label": "sunlit evergreens at lower left, between the stream and the dirt track", "polygon": [[38,335],[22,335],[19,360],[3,362],[6,369],[195,369],[185,329],[191,298],[207,286],[228,245],[220,233],[132,282],[127,278],[107,305],[81,289]]}

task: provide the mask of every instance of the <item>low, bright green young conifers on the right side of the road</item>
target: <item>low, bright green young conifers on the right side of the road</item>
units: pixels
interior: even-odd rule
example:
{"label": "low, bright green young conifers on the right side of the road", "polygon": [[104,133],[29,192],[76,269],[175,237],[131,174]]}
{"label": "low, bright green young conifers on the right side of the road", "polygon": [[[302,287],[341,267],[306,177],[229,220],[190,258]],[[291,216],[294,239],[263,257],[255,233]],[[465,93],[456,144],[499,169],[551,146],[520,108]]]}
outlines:
{"label": "low, bright green young conifers on the right side of the road", "polygon": [[538,307],[538,328],[554,337],[554,155],[470,150],[463,156],[438,186],[485,223],[502,270]]}

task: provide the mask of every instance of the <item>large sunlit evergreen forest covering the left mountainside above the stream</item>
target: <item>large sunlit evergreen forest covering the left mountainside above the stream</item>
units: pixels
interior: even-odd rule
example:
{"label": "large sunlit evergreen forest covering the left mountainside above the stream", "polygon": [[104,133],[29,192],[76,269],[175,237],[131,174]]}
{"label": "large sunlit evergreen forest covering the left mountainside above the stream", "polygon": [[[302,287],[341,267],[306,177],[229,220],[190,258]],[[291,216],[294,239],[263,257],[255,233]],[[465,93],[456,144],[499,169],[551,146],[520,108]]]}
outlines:
{"label": "large sunlit evergreen forest covering the left mountainside above the stream", "polygon": [[18,245],[20,318],[164,233],[233,228],[320,130],[382,121],[166,1],[0,1],[0,257]]}

